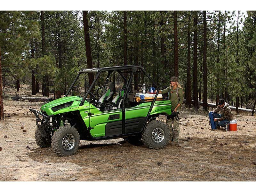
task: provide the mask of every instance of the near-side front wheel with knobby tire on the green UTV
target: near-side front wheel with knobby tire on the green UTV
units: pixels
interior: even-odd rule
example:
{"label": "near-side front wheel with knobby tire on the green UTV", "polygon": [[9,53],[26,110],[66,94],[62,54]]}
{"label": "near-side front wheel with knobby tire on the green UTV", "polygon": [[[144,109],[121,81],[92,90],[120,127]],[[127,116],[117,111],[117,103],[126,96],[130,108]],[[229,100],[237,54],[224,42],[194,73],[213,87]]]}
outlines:
{"label": "near-side front wheel with knobby tire on the green UTV", "polygon": [[[65,142],[65,141],[70,141]],[[65,143],[67,145],[65,145]],[[74,155],[80,144],[80,136],[75,127],[61,126],[52,136],[52,149],[58,156]],[[65,148],[64,148],[65,147]]]}

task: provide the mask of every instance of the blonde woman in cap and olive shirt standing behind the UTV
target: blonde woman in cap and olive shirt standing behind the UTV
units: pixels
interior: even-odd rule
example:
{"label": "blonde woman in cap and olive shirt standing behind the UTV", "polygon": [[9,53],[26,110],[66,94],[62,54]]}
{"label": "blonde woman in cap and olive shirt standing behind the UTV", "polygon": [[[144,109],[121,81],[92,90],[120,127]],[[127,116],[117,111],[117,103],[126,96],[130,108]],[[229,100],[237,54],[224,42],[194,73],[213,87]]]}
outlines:
{"label": "blonde woman in cap and olive shirt standing behind the UTV", "polygon": [[[181,114],[180,106],[183,103],[183,88],[178,83],[178,77],[173,76],[170,80],[170,86],[168,86],[164,90],[159,90],[159,93],[167,93],[168,99],[170,99],[172,103],[172,111],[179,112]],[[155,91],[156,92],[156,91]],[[176,145],[180,147],[179,144],[179,135],[180,135],[180,124],[178,118],[173,119],[173,130],[172,130],[172,119],[167,119],[166,124],[171,129],[171,145]]]}

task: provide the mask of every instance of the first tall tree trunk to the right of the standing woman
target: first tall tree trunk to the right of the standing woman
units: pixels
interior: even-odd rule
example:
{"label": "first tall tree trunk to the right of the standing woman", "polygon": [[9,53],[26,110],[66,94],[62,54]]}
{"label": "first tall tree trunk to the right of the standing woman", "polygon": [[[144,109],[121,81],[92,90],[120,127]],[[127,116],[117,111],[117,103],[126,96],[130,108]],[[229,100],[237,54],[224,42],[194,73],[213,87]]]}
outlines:
{"label": "first tall tree trunk to the right of the standing woman", "polygon": [[191,66],[190,66],[190,47],[191,47],[191,41],[190,41],[190,13],[188,15],[188,67],[187,67],[187,86],[186,86],[186,103],[187,107],[191,108]]}

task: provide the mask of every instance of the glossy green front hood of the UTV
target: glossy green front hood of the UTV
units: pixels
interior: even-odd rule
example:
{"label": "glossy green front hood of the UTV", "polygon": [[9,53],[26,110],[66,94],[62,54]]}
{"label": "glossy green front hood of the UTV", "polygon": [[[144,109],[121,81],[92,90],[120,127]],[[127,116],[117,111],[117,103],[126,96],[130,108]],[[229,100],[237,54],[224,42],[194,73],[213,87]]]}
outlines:
{"label": "glossy green front hood of the UTV", "polygon": [[[67,111],[77,110],[79,104],[81,103],[82,98],[77,96],[62,97],[60,99],[53,100],[49,103],[44,104],[41,107],[42,112],[46,112],[47,115],[57,115],[59,113],[64,113]],[[67,106],[64,106],[65,103],[68,103]],[[59,106],[59,109],[54,108]]]}

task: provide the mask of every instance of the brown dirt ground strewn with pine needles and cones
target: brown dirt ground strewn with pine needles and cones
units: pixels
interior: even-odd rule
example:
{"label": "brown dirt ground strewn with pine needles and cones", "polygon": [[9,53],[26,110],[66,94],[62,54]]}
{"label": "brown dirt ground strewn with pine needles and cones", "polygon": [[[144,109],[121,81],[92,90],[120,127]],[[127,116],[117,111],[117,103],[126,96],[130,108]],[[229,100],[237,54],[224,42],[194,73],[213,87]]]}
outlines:
{"label": "brown dirt ground strewn with pine needles and cones", "polygon": [[[20,90],[31,93],[28,86]],[[13,89],[9,92],[15,95]],[[4,100],[0,181],[256,180],[256,117],[249,114],[233,112],[237,132],[212,132],[206,112],[182,108],[181,148],[154,150],[123,139],[81,141],[77,154],[58,157],[51,148],[39,148],[34,139],[35,116],[28,108],[41,105]]]}

